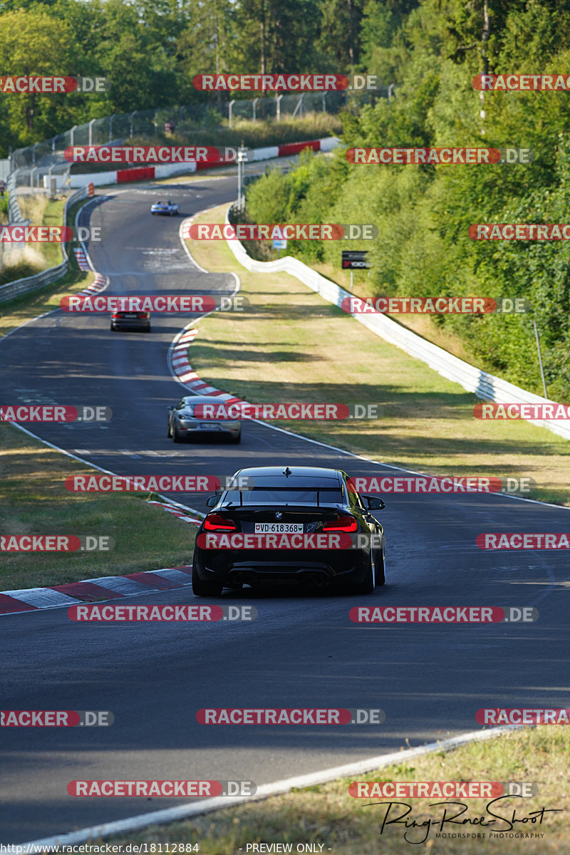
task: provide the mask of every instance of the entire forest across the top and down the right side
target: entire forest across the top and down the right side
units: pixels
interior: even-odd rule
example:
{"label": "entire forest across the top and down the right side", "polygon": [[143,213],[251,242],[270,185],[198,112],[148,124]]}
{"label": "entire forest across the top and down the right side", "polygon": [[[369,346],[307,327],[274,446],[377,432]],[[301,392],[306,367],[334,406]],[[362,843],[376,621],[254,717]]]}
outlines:
{"label": "entire forest across the top and down the right side", "polygon": [[[99,94],[3,95],[0,147],[91,118],[191,103],[195,74],[366,72],[394,83],[343,116],[344,148],[305,156],[248,189],[258,222],[372,222],[376,293],[526,297],[549,397],[570,398],[570,267],[565,241],[474,242],[482,222],[570,221],[570,92],[481,92],[473,76],[564,74],[570,0],[6,0],[3,74],[104,76]],[[244,93],[250,97],[250,93]],[[211,97],[211,96],[210,96]],[[346,147],[514,146],[530,165],[356,166]],[[338,267],[338,245],[290,245]],[[481,367],[542,393],[532,315],[450,315]]]}

